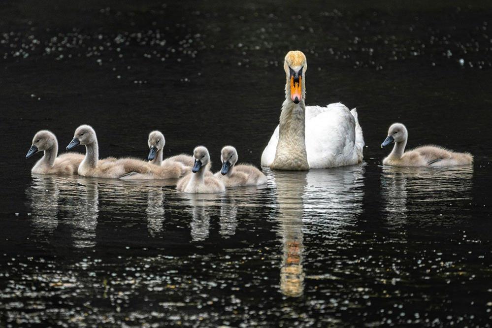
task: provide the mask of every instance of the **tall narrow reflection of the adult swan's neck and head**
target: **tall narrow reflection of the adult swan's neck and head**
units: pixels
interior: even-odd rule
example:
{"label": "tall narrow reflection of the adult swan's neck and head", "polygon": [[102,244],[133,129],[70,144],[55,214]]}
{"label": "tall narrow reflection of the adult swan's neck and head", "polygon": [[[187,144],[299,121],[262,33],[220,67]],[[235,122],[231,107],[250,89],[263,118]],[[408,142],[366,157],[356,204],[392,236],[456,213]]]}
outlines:
{"label": "tall narrow reflection of the adult swan's neck and head", "polygon": [[271,172],[277,187],[280,223],[278,233],[282,237],[283,255],[280,268],[280,291],[298,297],[304,292],[302,267],[302,195],[306,186],[306,172]]}

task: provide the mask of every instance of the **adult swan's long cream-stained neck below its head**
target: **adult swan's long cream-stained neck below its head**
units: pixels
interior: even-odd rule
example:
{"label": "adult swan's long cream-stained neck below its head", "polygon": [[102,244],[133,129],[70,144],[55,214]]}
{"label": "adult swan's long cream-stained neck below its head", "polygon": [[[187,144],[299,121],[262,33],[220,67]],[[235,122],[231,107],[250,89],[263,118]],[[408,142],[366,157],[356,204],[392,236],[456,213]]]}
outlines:
{"label": "adult swan's long cream-stained neck below its head", "polygon": [[[289,82],[289,81],[288,81]],[[285,86],[285,101],[280,114],[279,138],[272,168],[284,170],[307,170],[306,154],[306,95],[305,79],[301,80],[302,99],[298,104],[291,100],[290,84]]]}

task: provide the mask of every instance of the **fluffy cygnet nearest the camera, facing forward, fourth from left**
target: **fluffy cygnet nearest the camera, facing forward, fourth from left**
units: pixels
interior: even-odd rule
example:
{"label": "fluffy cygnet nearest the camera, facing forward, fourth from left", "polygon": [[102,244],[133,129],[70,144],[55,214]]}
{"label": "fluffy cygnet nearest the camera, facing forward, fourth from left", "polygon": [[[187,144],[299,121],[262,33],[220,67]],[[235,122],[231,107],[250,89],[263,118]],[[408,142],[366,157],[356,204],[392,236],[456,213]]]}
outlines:
{"label": "fluffy cygnet nearest the camera, facing forward, fourth from left", "polygon": [[[181,178],[176,189],[185,193],[222,193],[226,191],[224,183],[213,176],[210,172],[210,154],[208,149],[203,146],[198,146],[193,150],[195,164],[192,172]],[[208,174],[207,174],[208,172]]]}

